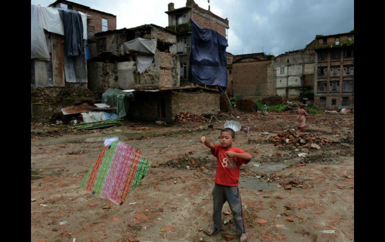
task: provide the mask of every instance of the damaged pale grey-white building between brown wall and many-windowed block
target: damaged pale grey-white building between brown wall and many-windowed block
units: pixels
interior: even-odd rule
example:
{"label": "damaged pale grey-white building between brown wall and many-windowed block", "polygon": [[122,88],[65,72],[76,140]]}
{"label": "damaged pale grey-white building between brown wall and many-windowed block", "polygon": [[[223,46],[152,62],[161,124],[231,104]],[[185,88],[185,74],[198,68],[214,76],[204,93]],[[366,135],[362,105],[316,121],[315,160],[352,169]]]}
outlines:
{"label": "damaged pale grey-white building between brown wall and many-windowed block", "polygon": [[303,93],[308,93],[312,99],[315,42],[313,40],[304,49],[289,51],[274,58],[276,95],[290,101],[298,101]]}

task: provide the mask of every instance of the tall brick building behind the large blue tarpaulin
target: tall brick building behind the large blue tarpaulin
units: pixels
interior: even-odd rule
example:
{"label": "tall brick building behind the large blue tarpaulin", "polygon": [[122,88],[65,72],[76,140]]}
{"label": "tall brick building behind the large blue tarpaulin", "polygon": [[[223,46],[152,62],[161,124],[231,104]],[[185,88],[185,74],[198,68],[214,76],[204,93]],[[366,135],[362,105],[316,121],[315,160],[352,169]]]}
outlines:
{"label": "tall brick building behind the large blue tarpaulin", "polygon": [[189,49],[191,33],[189,20],[193,19],[201,28],[215,30],[227,38],[228,20],[198,6],[193,0],[186,0],[186,5],[174,8],[174,3],[168,3],[168,26],[166,28],[176,33],[177,53],[180,57],[180,85],[189,85]]}

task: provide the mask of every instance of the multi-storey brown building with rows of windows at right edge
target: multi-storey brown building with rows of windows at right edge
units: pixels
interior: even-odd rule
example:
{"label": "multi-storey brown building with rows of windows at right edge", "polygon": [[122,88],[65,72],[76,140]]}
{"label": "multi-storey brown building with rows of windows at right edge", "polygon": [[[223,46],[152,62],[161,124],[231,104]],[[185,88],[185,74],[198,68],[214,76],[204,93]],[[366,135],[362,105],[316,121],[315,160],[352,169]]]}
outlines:
{"label": "multi-storey brown building with rows of windows at right edge", "polygon": [[314,105],[336,109],[354,104],[354,31],[315,40]]}

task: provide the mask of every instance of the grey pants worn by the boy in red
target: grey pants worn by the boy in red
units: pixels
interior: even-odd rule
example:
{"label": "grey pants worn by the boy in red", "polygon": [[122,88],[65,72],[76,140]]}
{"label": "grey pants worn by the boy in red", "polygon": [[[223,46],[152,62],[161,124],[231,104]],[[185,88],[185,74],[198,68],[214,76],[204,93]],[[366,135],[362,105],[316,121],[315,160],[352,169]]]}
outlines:
{"label": "grey pants worn by the boy in red", "polygon": [[237,233],[246,233],[244,226],[242,204],[240,202],[238,187],[228,187],[215,184],[212,189],[213,213],[212,219],[216,229],[222,229],[222,208],[227,201],[234,219]]}

